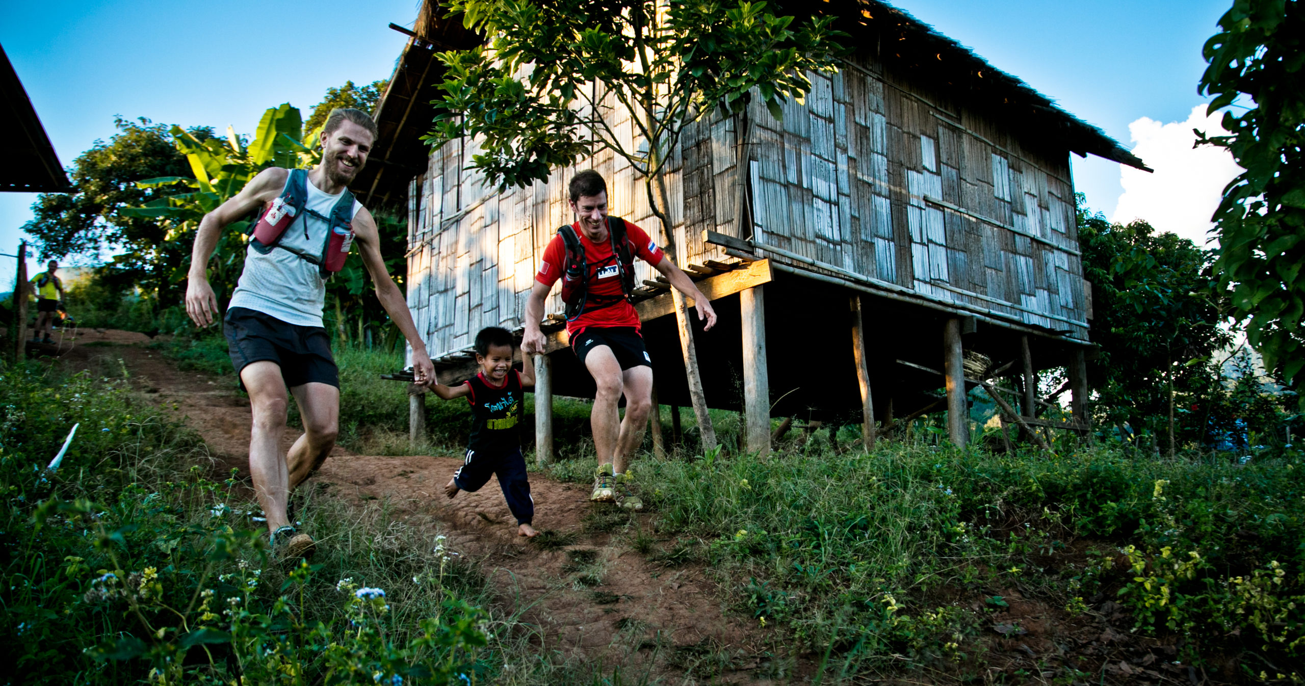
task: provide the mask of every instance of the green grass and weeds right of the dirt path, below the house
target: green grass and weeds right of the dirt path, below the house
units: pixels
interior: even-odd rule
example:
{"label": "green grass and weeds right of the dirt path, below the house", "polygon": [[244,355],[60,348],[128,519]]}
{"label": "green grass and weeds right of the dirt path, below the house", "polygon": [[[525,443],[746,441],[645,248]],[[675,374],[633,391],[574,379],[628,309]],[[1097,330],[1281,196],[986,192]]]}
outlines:
{"label": "green grass and weeds right of the dirt path, below the house", "polygon": [[[1137,631],[1182,636],[1185,660],[1248,649],[1298,661],[1302,468],[1296,453],[1240,466],[921,441],[766,460],[645,458],[634,473],[655,528],[677,537],[650,561],[706,561],[736,609],[806,651],[833,651],[852,678],[975,655],[983,613],[954,599],[1014,586],[1053,608],[1118,600]],[[1081,539],[1099,554],[1071,550]],[[1131,571],[1112,563],[1129,545]]]}

